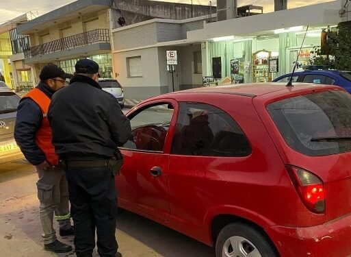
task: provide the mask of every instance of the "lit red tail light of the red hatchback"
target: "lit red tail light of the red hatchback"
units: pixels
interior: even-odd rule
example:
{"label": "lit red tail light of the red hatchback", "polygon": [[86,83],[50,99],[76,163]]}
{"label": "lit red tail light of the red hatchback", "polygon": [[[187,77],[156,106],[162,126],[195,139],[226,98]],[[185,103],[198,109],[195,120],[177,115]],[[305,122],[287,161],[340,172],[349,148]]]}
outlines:
{"label": "lit red tail light of the red hatchback", "polygon": [[298,167],[287,165],[287,171],[304,205],[312,212],[324,212],[325,194],[322,180],[317,175]]}

